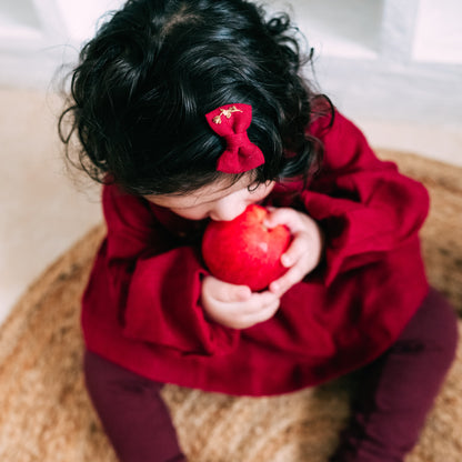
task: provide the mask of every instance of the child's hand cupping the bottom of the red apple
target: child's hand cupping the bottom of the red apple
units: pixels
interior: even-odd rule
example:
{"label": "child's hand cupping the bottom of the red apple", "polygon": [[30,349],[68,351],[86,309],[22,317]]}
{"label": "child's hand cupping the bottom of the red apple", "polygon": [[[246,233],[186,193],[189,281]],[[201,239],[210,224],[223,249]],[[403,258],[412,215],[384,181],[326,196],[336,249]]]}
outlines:
{"label": "child's hand cupping the bottom of the red apple", "polygon": [[279,297],[272,292],[252,292],[247,285],[220,281],[212,275],[202,282],[202,307],[208,317],[232,329],[251,328],[269,320],[279,308]]}

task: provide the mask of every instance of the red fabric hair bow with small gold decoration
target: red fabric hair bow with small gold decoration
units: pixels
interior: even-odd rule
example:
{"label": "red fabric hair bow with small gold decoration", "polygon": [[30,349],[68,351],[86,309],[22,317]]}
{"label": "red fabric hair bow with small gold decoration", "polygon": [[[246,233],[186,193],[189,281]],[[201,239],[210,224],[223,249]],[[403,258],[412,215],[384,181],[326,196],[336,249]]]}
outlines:
{"label": "red fabric hair bow with small gold decoration", "polygon": [[227,149],[217,161],[223,173],[243,173],[264,163],[261,149],[247,134],[252,121],[249,104],[227,104],[205,114],[210,128],[227,142]]}

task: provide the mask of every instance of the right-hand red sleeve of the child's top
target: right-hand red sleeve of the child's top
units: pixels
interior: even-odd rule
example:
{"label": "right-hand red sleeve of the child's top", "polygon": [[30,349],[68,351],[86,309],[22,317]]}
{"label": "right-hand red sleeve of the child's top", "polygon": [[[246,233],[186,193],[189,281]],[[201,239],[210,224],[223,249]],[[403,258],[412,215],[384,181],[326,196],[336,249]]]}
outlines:
{"label": "right-hand red sleeve of the child's top", "polygon": [[325,282],[374,262],[418,237],[429,210],[424,187],[380,161],[361,131],[340,113],[323,137],[322,173],[302,193],[327,233]]}

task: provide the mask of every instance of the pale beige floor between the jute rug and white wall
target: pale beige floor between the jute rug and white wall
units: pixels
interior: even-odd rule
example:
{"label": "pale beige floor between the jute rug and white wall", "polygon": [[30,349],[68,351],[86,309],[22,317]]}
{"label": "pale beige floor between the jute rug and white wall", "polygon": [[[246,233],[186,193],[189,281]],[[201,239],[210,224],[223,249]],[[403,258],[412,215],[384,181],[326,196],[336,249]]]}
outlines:
{"label": "pale beige floor between the jute rug and white wall", "polygon": [[[0,323],[28,285],[101,221],[99,189],[66,173],[57,97],[0,88]],[[374,145],[462,164],[455,129],[356,121]]]}

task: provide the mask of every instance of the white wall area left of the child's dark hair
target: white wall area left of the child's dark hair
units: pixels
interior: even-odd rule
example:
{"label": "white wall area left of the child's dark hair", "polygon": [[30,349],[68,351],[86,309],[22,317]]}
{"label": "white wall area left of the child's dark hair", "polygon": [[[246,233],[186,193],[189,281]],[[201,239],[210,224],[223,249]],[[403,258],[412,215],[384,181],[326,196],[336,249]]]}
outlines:
{"label": "white wall area left of the child's dark hair", "polygon": [[2,0],[0,84],[48,89],[57,69],[73,62],[98,19],[122,0]]}

